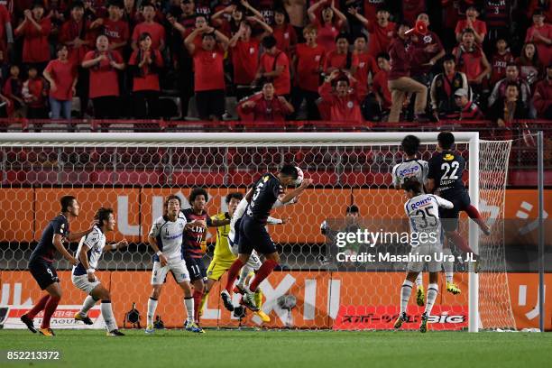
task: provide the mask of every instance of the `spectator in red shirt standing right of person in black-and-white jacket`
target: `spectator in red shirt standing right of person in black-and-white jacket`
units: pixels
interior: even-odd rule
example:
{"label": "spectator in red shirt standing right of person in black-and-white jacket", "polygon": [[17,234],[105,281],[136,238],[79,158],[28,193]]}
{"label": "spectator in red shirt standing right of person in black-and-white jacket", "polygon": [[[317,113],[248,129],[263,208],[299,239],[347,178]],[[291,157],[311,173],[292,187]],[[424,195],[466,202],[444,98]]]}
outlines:
{"label": "spectator in red shirt standing right of person in black-and-white jacket", "polygon": [[468,83],[474,92],[474,101],[478,101],[483,93],[483,79],[491,74],[491,64],[483,49],[475,42],[474,30],[466,28],[462,32],[462,41],[455,47],[456,69],[462,71],[468,78]]}

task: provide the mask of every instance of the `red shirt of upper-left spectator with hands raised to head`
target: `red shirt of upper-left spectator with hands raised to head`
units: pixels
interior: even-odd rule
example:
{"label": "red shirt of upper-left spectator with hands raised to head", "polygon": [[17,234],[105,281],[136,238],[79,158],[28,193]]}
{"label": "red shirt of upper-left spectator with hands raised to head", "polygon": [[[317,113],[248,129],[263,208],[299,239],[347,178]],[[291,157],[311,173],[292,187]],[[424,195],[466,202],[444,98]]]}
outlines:
{"label": "red shirt of upper-left spectator with hands raised to head", "polygon": [[48,36],[51,32],[50,18],[43,18],[39,22],[39,31],[34,24],[27,21],[20,32],[16,35],[23,35],[23,62],[45,62],[50,60],[50,44]]}

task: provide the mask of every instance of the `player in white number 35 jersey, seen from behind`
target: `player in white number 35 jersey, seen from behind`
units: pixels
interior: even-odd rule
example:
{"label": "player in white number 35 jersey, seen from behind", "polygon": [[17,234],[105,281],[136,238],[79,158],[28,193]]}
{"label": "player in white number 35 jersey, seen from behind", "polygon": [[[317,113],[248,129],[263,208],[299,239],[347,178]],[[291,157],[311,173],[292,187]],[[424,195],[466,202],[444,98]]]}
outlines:
{"label": "player in white number 35 jersey, seen from behind", "polygon": [[438,276],[441,271],[441,260],[443,258],[443,243],[441,220],[439,218],[439,207],[452,208],[452,202],[432,194],[424,194],[421,190],[421,183],[417,179],[407,179],[403,189],[409,200],[404,205],[404,210],[409,217],[410,224],[410,252],[407,276],[400,288],[400,315],[394,327],[399,328],[408,317],[407,306],[412,292],[412,286],[416,277],[428,263],[429,285],[428,302],[426,310],[421,315],[420,332],[428,330],[428,317],[437,299]]}

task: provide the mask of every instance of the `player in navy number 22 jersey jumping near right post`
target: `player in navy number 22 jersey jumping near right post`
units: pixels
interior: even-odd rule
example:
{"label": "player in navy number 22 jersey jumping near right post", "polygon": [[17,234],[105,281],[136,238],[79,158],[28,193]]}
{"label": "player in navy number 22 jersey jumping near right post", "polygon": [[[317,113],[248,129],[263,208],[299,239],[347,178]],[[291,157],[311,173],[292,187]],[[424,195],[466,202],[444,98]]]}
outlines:
{"label": "player in navy number 22 jersey jumping near right post", "polygon": [[[428,162],[428,183],[426,189],[429,193],[437,194],[451,201],[455,207],[442,209],[441,218],[446,236],[453,241],[465,253],[474,253],[464,238],[458,234],[458,215],[465,211],[481,228],[485,235],[489,235],[489,227],[484,223],[481,214],[470,203],[470,196],[465,189],[462,175],[465,170],[465,160],[458,153],[451,151],[455,143],[455,136],[450,132],[441,132],[437,135],[437,155]],[[474,253],[477,257],[477,254]]]}

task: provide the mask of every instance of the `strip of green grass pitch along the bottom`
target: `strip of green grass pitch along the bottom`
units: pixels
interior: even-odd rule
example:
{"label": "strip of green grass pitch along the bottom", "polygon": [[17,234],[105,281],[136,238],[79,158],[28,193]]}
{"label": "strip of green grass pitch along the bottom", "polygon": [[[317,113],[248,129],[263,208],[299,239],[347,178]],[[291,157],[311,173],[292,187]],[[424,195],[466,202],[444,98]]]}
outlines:
{"label": "strip of green grass pitch along the bottom", "polygon": [[[57,330],[46,338],[0,330],[0,365],[40,367],[544,367],[552,359],[552,334],[428,331],[215,331]],[[60,350],[56,363],[6,363],[5,350]]]}

